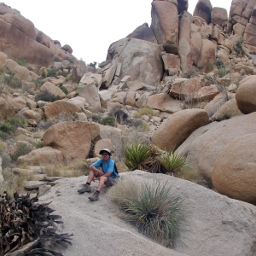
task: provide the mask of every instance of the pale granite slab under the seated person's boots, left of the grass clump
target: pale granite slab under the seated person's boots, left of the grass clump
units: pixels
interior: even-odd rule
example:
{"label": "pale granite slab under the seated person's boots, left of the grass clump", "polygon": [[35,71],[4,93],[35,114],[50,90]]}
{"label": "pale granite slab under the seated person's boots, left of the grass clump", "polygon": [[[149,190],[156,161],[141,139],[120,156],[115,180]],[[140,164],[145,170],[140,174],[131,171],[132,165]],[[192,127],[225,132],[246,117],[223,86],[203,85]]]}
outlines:
{"label": "pale granite slab under the seated person's boots, left of the grass clump", "polygon": [[[109,188],[104,187],[100,200],[95,202],[88,199],[88,193],[79,195],[77,190],[86,178],[62,178],[39,198],[40,202],[51,201],[49,207],[62,216],[60,232],[74,235],[73,246],[62,249],[63,255],[184,255],[155,243],[119,218],[117,208],[109,199]],[[93,190],[96,185],[97,182],[91,184]]]}

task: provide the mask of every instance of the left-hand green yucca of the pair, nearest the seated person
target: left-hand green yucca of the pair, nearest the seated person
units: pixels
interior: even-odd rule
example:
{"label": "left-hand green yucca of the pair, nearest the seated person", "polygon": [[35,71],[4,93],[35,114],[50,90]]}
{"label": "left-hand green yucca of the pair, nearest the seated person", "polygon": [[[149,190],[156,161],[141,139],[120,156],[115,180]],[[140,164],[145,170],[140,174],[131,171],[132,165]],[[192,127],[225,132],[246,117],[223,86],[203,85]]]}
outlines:
{"label": "left-hand green yucca of the pair, nearest the seated person", "polygon": [[143,163],[150,154],[148,144],[131,143],[125,148],[125,166],[130,170],[147,170],[147,166]]}

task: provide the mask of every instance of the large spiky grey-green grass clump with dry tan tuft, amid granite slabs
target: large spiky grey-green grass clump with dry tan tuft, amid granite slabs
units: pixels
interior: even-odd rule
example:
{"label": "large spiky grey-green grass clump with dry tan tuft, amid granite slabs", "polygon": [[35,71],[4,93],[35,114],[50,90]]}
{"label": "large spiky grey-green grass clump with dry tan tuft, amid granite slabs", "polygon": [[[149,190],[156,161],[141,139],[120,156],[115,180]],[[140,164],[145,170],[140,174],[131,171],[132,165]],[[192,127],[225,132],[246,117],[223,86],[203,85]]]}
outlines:
{"label": "large spiky grey-green grass clump with dry tan tuft, amid granite slabs", "polygon": [[185,210],[183,199],[173,194],[167,182],[120,182],[113,187],[111,195],[122,218],[134,224],[139,232],[166,247],[174,246],[180,236]]}

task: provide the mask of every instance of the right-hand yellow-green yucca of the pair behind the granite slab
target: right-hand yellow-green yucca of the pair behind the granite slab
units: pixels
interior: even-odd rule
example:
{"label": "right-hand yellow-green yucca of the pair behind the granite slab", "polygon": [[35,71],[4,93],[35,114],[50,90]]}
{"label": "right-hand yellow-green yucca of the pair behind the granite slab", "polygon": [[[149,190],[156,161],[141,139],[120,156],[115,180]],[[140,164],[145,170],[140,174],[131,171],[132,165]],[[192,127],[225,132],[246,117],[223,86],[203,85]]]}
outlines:
{"label": "right-hand yellow-green yucca of the pair behind the granite slab", "polygon": [[164,152],[160,155],[159,161],[167,173],[177,174],[185,166],[186,160],[175,151]]}

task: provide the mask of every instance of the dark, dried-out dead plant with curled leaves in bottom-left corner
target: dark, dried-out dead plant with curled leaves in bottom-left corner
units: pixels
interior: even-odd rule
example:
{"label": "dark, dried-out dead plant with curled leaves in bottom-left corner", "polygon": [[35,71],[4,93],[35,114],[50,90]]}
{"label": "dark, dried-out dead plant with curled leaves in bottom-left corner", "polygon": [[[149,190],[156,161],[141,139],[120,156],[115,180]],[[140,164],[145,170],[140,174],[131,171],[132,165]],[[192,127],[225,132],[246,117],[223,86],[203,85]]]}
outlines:
{"label": "dark, dried-out dead plant with curled leaves in bottom-left corner", "polygon": [[[61,216],[48,205],[39,204],[38,195],[8,193],[1,195],[0,253],[1,255],[62,255],[55,251],[56,245],[67,247],[71,236],[59,234],[56,224],[62,224]],[[8,216],[8,218],[7,218]]]}

